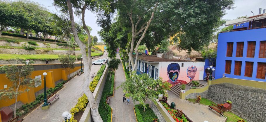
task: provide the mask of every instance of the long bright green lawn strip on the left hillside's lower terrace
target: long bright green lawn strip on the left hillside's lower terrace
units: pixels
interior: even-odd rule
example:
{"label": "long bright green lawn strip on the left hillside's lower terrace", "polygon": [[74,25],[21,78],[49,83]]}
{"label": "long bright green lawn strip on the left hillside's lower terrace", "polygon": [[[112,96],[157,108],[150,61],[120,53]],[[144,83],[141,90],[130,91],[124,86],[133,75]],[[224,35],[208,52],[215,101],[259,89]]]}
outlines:
{"label": "long bright green lawn strip on the left hillside's lower terrace", "polygon": [[[92,56],[100,55],[100,53],[91,53]],[[74,57],[81,57],[81,55],[71,55]],[[20,55],[20,54],[0,54],[0,60],[14,60],[19,58],[21,60],[53,60],[58,59],[58,55],[53,54],[36,54],[36,55]]]}

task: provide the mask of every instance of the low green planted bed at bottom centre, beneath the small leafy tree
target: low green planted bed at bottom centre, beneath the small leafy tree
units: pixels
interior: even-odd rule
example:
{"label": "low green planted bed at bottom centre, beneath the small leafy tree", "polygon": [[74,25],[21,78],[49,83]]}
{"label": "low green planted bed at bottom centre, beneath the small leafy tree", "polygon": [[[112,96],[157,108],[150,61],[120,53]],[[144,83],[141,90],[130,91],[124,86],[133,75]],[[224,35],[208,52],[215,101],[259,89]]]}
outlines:
{"label": "low green planted bed at bottom centre, beneath the small leafy tree", "polygon": [[145,112],[143,111],[143,105],[135,105],[135,112],[138,122],[153,122],[153,120],[158,120],[158,117],[154,114],[153,110],[146,104]]}

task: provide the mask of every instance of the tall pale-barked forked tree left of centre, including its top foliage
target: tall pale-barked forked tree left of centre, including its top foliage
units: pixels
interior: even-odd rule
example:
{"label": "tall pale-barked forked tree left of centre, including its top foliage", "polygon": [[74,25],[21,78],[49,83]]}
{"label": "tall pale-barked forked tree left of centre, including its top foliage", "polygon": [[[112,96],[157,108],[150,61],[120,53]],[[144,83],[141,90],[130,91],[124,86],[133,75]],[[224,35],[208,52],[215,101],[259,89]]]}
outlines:
{"label": "tall pale-barked forked tree left of centre, including its top foliage", "polygon": [[[101,119],[101,116],[98,112],[98,106],[97,103],[94,99],[94,96],[92,94],[92,92],[89,90],[89,74],[91,71],[91,35],[89,32],[88,27],[86,26],[84,17],[85,17],[85,11],[86,9],[89,9],[91,11],[95,11],[98,8],[103,8],[103,9],[108,9],[108,2],[101,0],[101,1],[83,1],[83,0],[77,0],[77,1],[70,1],[70,0],[54,0],[54,4],[58,7],[61,8],[62,12],[68,13],[69,14],[69,18],[70,18],[70,22],[71,22],[71,30],[72,30],[72,34],[74,36],[74,40],[75,42],[77,42],[77,44],[80,47],[81,53],[82,53],[82,57],[84,59],[84,79],[83,79],[83,90],[84,90],[84,94],[86,94],[88,101],[89,101],[89,105],[91,107],[91,115],[92,115],[92,119],[93,121],[97,121],[97,122],[102,122],[103,120]],[[67,6],[66,6],[67,5]],[[74,20],[74,13],[73,13],[73,8],[76,10],[75,13],[77,15],[81,15],[81,20],[82,20],[82,25],[84,30],[86,31],[87,35],[88,35],[88,53],[86,51],[86,44],[84,44],[84,42],[82,42],[79,38],[78,32],[77,32],[77,28],[75,26],[75,20]],[[87,55],[88,54],[88,55]]]}

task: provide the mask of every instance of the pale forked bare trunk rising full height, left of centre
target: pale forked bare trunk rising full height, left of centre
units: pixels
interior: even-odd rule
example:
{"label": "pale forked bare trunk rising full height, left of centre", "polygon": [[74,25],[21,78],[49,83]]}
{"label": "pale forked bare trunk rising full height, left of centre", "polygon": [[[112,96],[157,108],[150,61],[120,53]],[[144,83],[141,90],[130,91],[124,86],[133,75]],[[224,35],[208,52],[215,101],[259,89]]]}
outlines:
{"label": "pale forked bare trunk rising full height, left of centre", "polygon": [[[103,122],[103,120],[101,119],[101,116],[98,112],[97,103],[94,99],[92,92],[89,89],[89,83],[90,83],[89,82],[89,74],[91,71],[91,47],[88,48],[88,56],[87,56],[86,46],[82,41],[80,41],[78,34],[77,34],[71,2],[70,2],[70,0],[66,0],[66,3],[68,5],[68,11],[69,11],[69,16],[70,16],[70,21],[71,21],[71,29],[72,29],[72,33],[74,35],[74,40],[79,45],[81,53],[82,53],[82,57],[84,59],[84,78],[83,78],[83,85],[82,86],[83,86],[84,93],[88,97],[89,105],[91,108],[91,116],[92,116],[93,121]],[[85,10],[86,10],[86,2],[85,2],[85,5],[82,9],[82,24],[83,24],[83,27],[88,34],[88,37],[89,37],[88,38],[88,45],[90,45],[91,44],[91,36],[90,36],[90,33],[89,33],[88,28],[87,28],[85,21],[84,21]]]}

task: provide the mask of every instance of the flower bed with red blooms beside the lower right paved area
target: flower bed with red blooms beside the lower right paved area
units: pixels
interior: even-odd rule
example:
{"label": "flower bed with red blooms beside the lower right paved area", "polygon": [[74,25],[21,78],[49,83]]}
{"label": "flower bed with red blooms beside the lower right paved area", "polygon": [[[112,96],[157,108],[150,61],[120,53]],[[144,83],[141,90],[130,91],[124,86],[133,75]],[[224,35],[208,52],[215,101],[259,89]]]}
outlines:
{"label": "flower bed with red blooms beside the lower right paved area", "polygon": [[176,121],[176,122],[189,122],[190,120],[187,119],[187,117],[185,116],[185,114],[182,112],[182,110],[175,110],[175,109],[171,109],[167,103],[160,101],[160,103],[162,103],[162,105],[164,106],[164,108],[168,111],[168,113],[172,116],[172,118]]}

